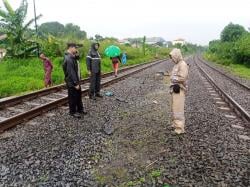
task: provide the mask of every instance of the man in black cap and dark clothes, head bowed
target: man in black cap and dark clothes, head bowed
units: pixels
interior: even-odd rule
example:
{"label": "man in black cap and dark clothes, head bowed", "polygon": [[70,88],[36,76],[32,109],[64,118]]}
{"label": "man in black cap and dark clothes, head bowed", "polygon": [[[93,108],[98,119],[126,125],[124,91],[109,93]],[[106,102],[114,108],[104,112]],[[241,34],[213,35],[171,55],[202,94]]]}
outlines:
{"label": "man in black cap and dark clothes, head bowed", "polygon": [[69,113],[75,118],[81,118],[80,114],[87,114],[83,110],[78,59],[77,45],[75,43],[69,43],[68,50],[64,57],[63,71],[68,88]]}

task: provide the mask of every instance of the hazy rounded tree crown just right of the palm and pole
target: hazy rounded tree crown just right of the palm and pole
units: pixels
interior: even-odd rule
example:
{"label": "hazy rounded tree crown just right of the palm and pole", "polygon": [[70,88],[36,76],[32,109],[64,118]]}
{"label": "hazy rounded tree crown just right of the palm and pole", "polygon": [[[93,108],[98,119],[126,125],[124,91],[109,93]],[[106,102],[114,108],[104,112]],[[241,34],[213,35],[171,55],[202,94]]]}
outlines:
{"label": "hazy rounded tree crown just right of the palm and pole", "polygon": [[64,25],[57,21],[46,22],[41,24],[38,30],[39,32],[45,33],[47,35],[51,34],[53,36],[62,36],[64,33]]}

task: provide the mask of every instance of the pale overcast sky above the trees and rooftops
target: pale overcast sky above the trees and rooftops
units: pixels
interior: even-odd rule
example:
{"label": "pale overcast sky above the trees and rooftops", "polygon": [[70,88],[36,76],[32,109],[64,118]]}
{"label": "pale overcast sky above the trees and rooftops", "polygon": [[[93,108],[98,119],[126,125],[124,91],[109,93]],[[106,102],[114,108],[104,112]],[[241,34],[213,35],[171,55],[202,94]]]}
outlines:
{"label": "pale overcast sky above the trees and rooftops", "polygon": [[[9,0],[15,8],[20,1]],[[34,13],[28,2],[29,19]],[[230,22],[250,27],[250,0],[36,0],[36,6],[43,15],[39,24],[72,22],[88,36],[161,36],[205,45]]]}

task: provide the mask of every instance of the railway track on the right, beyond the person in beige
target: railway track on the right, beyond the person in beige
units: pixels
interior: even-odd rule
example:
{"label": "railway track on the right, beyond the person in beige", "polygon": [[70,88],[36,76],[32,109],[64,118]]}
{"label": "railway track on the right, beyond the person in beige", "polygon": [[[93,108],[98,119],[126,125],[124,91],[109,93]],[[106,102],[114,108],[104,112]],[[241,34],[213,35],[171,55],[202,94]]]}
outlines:
{"label": "railway track on the right, beyond the person in beige", "polygon": [[[215,99],[217,99],[216,103],[221,104],[223,106],[221,106],[220,108],[226,111],[229,111],[229,108],[225,107],[224,105],[227,104],[230,107],[230,110],[232,110],[234,113],[237,114],[237,116],[239,116],[240,118],[244,119],[247,122],[247,126],[249,127],[250,124],[250,114],[249,111],[245,108],[246,105],[242,106],[242,102],[239,102],[241,100],[245,100],[248,99],[245,96],[250,96],[250,89],[246,87],[246,85],[242,85],[241,83],[239,83],[236,80],[233,80],[231,77],[228,77],[227,75],[225,75],[224,73],[222,73],[221,71],[210,67],[208,64],[206,64],[206,67],[209,67],[211,70],[216,71],[217,73],[221,74],[221,76],[223,76],[225,79],[228,79],[232,82],[234,82],[234,85],[237,85],[237,89],[238,89],[238,95],[239,97],[241,97],[241,100],[238,99],[238,97],[235,97],[234,94],[232,94],[232,92],[230,92],[230,89],[225,89],[225,86],[228,86],[228,82],[224,79],[224,80],[220,80],[218,79],[218,77],[216,77],[215,75],[211,74],[211,71],[209,71],[208,69],[205,70],[204,68],[204,62],[201,61],[201,59],[197,56],[194,57],[194,63],[195,65],[198,67],[198,69],[200,70],[201,74],[206,78],[206,80],[209,82],[210,85],[212,85],[212,88],[209,87],[209,92],[213,93],[212,95],[215,96]],[[221,84],[219,82],[222,82]],[[222,86],[224,85],[224,86]],[[230,86],[232,86],[232,84],[230,84]],[[240,88],[239,88],[240,87]],[[232,87],[231,87],[232,88]],[[218,94],[219,97],[216,97],[216,93]],[[243,97],[243,98],[242,98]],[[225,103],[224,103],[225,101]],[[249,104],[249,103],[248,103]],[[232,117],[230,115],[226,115],[227,117]]]}

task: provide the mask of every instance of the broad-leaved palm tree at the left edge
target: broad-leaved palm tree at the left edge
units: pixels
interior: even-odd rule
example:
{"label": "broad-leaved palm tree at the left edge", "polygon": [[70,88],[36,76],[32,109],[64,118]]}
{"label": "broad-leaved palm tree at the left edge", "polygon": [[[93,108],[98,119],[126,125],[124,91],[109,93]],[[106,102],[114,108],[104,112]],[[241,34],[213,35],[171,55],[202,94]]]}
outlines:
{"label": "broad-leaved palm tree at the left edge", "polygon": [[[36,42],[32,40],[34,32],[29,29],[35,21],[31,19],[27,23],[28,2],[22,0],[19,8],[13,10],[8,0],[3,0],[4,9],[0,8],[0,32],[7,35],[7,38],[0,42],[11,57],[25,57],[36,49]],[[39,19],[41,15],[37,16]]]}

